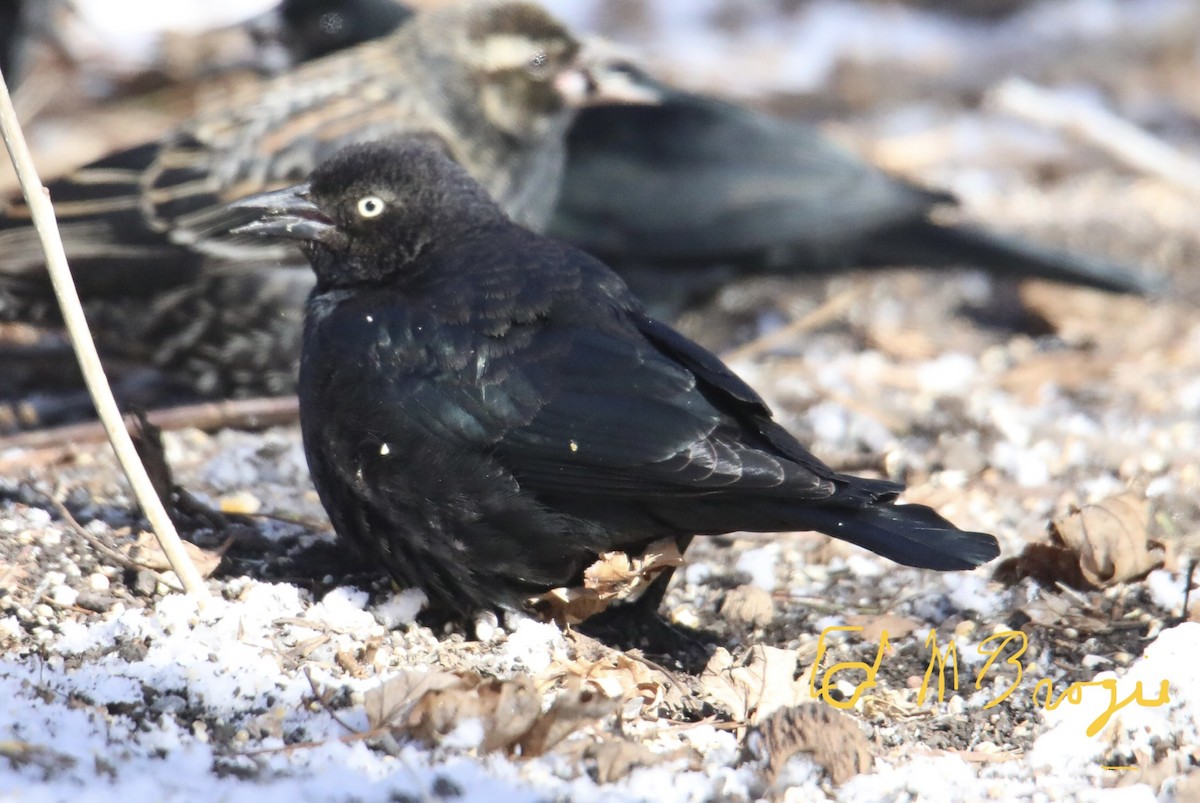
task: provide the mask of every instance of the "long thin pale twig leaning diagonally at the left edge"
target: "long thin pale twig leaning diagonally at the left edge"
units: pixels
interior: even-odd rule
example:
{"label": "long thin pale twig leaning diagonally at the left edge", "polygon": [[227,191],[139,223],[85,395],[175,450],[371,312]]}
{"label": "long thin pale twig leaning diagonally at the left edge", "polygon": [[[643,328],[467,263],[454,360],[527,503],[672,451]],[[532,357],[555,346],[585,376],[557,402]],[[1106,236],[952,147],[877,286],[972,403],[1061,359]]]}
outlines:
{"label": "long thin pale twig leaning diagonally at the left edge", "polygon": [[100,420],[108,432],[108,439],[113,444],[116,459],[125,469],[125,475],[128,478],[138,504],[146,519],[150,520],[155,535],[162,545],[162,551],[172,569],[175,570],[175,576],[179,577],[187,593],[193,594],[203,605],[204,600],[209,598],[204,579],[184,551],[175,526],[172,523],[170,516],[167,515],[167,508],[162,499],[158,498],[150,484],[150,477],[138,459],[133,441],[121,420],[121,412],[116,407],[116,400],[113,398],[113,390],[108,386],[104,368],[100,364],[96,344],[91,340],[88,320],[84,318],[83,307],[79,304],[79,294],[71,278],[71,269],[67,266],[62,238],[59,235],[54,206],[50,204],[50,193],[37,178],[34,157],[25,144],[25,137],[17,121],[17,112],[12,107],[12,97],[8,95],[8,85],[5,83],[2,73],[0,73],[0,132],[2,132],[5,145],[8,148],[8,157],[17,170],[17,179],[20,181],[20,191],[29,205],[34,227],[42,241],[46,266],[50,272],[50,282],[54,284],[54,295],[59,300],[62,319],[66,323],[67,334],[71,336],[71,344],[79,358],[79,368],[96,405]]}

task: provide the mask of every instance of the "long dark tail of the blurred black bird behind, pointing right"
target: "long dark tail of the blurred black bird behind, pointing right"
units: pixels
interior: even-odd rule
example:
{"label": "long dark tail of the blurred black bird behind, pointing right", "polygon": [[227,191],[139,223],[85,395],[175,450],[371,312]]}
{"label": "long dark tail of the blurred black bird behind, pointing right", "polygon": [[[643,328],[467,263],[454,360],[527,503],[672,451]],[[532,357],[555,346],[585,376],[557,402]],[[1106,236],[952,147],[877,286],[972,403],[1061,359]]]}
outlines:
{"label": "long dark tail of the blurred black bird behind, pointing right", "polygon": [[869,248],[868,258],[881,264],[973,266],[996,276],[1046,278],[1132,295],[1158,295],[1168,288],[1166,280],[1160,276],[1102,257],[932,221],[898,226],[872,235]]}

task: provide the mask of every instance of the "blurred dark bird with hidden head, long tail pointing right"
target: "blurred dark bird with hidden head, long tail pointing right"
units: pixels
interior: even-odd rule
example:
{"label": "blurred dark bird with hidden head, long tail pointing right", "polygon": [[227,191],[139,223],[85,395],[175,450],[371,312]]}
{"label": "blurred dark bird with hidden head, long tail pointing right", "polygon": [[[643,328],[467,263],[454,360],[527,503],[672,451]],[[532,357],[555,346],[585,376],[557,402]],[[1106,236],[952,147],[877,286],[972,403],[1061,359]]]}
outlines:
{"label": "blurred dark bird with hidden head, long tail pointing right", "polygon": [[815,128],[666,86],[654,106],[584,110],[550,233],[677,312],[739,275],[982,268],[1114,293],[1164,282],[1099,257],[936,222],[953,196],[888,175]]}

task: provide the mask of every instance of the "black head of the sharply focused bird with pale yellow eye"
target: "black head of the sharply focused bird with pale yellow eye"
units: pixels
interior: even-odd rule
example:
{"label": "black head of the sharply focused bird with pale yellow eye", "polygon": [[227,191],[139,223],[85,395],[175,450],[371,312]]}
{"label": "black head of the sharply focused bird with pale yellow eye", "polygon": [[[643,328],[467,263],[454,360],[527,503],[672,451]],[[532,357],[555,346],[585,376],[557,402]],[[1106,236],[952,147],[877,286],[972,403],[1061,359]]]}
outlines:
{"label": "black head of the sharply focused bird with pale yellow eye", "polygon": [[420,138],[366,143],[322,162],[308,181],[244,198],[233,229],[295,240],[320,288],[413,276],[436,240],[504,220],[487,192]]}

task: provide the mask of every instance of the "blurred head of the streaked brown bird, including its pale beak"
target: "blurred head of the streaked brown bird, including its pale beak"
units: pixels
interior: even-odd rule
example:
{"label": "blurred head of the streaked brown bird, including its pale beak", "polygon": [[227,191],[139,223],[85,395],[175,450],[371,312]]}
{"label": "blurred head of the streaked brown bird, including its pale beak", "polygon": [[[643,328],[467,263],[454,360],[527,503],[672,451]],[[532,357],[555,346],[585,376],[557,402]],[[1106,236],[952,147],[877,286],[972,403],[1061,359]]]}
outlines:
{"label": "blurred head of the streaked brown bird, including its pale beak", "polygon": [[412,36],[425,66],[462,114],[478,109],[506,136],[565,131],[594,103],[654,103],[630,79],[629,60],[599,40],[581,40],[545,8],[521,0],[474,0],[419,16]]}

